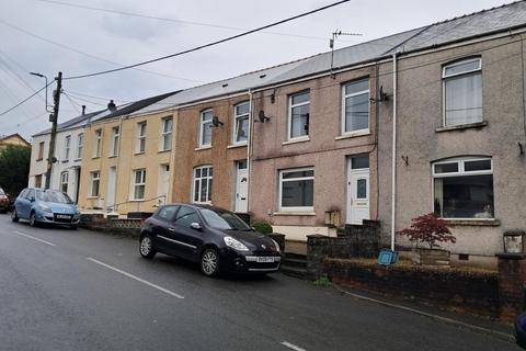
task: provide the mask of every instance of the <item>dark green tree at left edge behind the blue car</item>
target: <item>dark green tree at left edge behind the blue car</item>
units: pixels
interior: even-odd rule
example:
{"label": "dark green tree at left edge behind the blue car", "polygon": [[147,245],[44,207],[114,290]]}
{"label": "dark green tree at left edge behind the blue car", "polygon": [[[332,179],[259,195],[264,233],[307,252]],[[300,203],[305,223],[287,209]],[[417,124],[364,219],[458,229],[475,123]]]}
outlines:
{"label": "dark green tree at left edge behind the blue car", "polygon": [[27,186],[31,148],[8,145],[0,149],[0,186],[11,196],[16,196]]}

